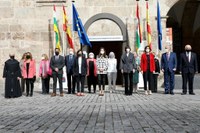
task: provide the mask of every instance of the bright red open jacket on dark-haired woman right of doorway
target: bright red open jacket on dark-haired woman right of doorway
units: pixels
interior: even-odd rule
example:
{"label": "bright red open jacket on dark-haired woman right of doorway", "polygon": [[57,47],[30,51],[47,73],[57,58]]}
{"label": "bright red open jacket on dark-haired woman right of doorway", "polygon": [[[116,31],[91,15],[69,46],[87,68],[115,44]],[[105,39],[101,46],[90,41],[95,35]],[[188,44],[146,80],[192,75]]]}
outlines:
{"label": "bright red open jacket on dark-haired woman right of doorway", "polygon": [[[155,71],[155,61],[154,61],[154,55],[152,53],[150,55],[150,72]],[[141,56],[141,71],[146,72],[147,71],[147,55],[146,53],[143,53]]]}

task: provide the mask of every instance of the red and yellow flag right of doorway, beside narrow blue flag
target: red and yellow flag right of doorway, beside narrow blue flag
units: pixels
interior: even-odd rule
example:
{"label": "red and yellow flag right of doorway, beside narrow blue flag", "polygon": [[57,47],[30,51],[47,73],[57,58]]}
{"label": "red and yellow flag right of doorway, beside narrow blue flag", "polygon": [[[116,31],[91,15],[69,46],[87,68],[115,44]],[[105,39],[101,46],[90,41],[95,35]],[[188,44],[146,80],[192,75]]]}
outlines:
{"label": "red and yellow flag right of doorway, beside narrow blue flag", "polygon": [[149,23],[149,5],[148,5],[148,1],[146,2],[146,21],[147,21],[147,44],[152,49],[151,27],[150,27],[150,23]]}

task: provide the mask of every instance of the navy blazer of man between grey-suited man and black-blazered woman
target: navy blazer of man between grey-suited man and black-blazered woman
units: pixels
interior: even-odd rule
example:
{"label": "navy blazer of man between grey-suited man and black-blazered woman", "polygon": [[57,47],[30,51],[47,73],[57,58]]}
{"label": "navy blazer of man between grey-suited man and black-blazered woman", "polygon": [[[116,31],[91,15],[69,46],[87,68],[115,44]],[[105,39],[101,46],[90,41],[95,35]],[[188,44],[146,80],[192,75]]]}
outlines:
{"label": "navy blazer of man between grey-suited man and black-blazered woman", "polygon": [[[71,61],[70,61],[70,56],[72,56]],[[74,59],[75,59],[75,55],[67,55],[65,57],[65,66],[66,66],[67,73],[73,72]]]}

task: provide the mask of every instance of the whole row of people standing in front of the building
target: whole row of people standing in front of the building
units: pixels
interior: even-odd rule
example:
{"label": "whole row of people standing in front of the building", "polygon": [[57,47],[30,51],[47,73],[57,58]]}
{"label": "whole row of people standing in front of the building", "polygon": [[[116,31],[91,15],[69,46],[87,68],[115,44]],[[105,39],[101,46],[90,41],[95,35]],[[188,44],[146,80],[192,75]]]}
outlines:
{"label": "whole row of people standing in front of the building", "polygon": [[[143,75],[145,95],[157,92],[157,79],[161,71],[164,73],[164,94],[174,95],[174,75],[177,70],[176,53],[171,52],[171,46],[165,47],[166,52],[162,54],[161,60],[152,53],[151,48],[146,46],[141,58],[136,52],[132,53],[129,46],[120,59],[120,70],[124,76],[125,95],[137,92],[139,83],[139,72]],[[180,56],[180,73],[183,78],[182,95],[187,93],[187,82],[189,82],[189,94],[195,95],[193,91],[193,80],[198,72],[196,54],[191,52],[190,45],[185,46],[185,52]],[[161,65],[160,63],[161,62]],[[116,89],[117,59],[115,53],[106,55],[104,48],[100,48],[96,56],[90,52],[86,59],[82,50],[76,55],[73,49],[69,49],[67,56],[60,55],[60,50],[55,49],[55,55],[48,59],[46,54],[42,55],[39,65],[39,77],[42,81],[42,93],[49,94],[50,77],[53,79],[53,92],[51,96],[57,96],[57,80],[59,82],[60,96],[63,92],[63,67],[66,66],[68,80],[68,94],[84,96],[84,85],[87,77],[88,92],[96,93],[96,85],[99,87],[99,96],[104,95],[106,79],[110,93]],[[10,59],[5,62],[3,77],[5,78],[5,97],[19,97],[25,91],[26,96],[33,96],[34,82],[36,80],[36,63],[30,52],[24,53],[20,62],[10,54]],[[21,80],[21,84],[20,84]],[[147,85],[148,83],[148,85]],[[134,90],[133,90],[134,89]]]}

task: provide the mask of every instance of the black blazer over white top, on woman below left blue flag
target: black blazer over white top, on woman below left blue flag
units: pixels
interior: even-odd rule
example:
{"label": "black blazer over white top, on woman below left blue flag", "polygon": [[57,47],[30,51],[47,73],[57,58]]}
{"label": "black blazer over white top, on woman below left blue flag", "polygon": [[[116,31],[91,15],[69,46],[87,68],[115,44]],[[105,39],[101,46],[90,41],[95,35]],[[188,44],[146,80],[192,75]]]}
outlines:
{"label": "black blazer over white top, on woman below left blue flag", "polygon": [[[78,64],[78,57],[74,60],[73,65],[73,75],[78,76],[79,75],[79,64]],[[81,75],[85,76],[87,74],[87,61],[85,57],[82,57],[82,63],[81,63]]]}

